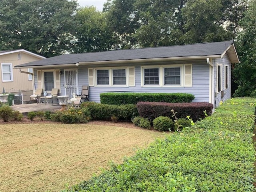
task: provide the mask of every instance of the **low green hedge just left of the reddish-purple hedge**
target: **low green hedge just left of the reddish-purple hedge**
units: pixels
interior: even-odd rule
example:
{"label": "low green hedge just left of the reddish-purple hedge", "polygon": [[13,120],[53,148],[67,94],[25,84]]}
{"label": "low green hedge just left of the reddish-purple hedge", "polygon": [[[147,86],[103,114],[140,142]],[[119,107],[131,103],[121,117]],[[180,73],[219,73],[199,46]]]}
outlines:
{"label": "low green hedge just left of the reddish-purple hedge", "polygon": [[108,105],[96,102],[83,102],[81,108],[90,110],[92,120],[111,120],[112,116],[116,116],[121,120],[131,120],[133,116],[138,116],[136,105]]}

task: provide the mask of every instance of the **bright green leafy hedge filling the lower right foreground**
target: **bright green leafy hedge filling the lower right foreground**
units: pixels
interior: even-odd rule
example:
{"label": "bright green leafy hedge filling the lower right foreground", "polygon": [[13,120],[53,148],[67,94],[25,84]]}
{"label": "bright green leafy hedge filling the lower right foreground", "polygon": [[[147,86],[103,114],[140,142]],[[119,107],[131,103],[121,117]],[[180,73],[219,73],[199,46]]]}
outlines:
{"label": "bright green leafy hedge filling the lower right foreground", "polygon": [[251,103],[247,98],[228,100],[195,126],[157,140],[123,164],[64,191],[253,192]]}

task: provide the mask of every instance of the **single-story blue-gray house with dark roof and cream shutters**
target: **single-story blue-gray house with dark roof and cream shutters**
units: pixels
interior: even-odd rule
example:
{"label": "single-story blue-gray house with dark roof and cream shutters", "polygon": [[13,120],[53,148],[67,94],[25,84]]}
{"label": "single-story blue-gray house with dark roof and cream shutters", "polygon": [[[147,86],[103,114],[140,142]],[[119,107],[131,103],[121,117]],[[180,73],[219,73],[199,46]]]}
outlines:
{"label": "single-story blue-gray house with dark roof and cream shutters", "polygon": [[231,97],[231,64],[239,62],[233,41],[224,41],[64,54],[14,68],[33,68],[36,88],[70,98],[89,85],[95,102],[104,92],[179,92],[218,106]]}

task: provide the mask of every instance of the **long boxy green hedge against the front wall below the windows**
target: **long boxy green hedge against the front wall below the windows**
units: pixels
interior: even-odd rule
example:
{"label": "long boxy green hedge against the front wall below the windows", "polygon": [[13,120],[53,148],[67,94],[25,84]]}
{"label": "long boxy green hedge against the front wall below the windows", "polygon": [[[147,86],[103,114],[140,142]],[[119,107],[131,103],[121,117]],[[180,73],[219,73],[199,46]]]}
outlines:
{"label": "long boxy green hedge against the front wall below the windows", "polygon": [[188,93],[101,93],[100,103],[121,105],[137,104],[140,101],[184,103],[192,102],[194,95]]}

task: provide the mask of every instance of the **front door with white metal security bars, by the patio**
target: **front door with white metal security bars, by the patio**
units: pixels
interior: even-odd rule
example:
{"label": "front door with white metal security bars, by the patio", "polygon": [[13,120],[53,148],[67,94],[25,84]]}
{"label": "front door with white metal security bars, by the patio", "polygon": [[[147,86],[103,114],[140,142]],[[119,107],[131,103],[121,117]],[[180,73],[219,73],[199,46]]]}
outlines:
{"label": "front door with white metal security bars, by the patio", "polygon": [[64,70],[65,74],[65,94],[71,99],[72,94],[78,94],[78,76],[77,70]]}

